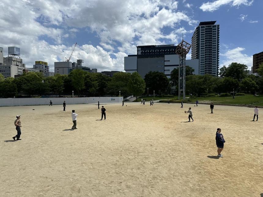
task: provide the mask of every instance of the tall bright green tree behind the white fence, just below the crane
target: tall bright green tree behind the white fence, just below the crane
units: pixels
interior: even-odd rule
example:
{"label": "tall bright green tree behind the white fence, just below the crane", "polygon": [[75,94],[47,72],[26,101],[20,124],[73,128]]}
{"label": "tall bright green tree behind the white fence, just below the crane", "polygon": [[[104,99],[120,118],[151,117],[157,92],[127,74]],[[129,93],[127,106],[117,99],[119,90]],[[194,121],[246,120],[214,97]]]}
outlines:
{"label": "tall bright green tree behind the white fence, just below the crane", "polygon": [[69,77],[72,80],[72,86],[73,86],[74,90],[76,90],[78,92],[78,95],[80,95],[80,91],[85,88],[84,79],[85,79],[86,74],[87,74],[87,72],[85,72],[81,69],[75,69],[69,73]]}

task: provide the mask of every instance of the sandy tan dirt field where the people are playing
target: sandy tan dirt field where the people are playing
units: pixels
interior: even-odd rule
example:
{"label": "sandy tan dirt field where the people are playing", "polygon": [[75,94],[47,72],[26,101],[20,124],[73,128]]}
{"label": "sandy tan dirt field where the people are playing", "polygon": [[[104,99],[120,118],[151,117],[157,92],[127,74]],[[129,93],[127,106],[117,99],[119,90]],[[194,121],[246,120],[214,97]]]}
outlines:
{"label": "sandy tan dirt field where the people are playing", "polygon": [[0,107],[0,196],[263,196],[263,110],[252,122],[246,107],[125,105],[104,105],[103,121],[94,104]]}

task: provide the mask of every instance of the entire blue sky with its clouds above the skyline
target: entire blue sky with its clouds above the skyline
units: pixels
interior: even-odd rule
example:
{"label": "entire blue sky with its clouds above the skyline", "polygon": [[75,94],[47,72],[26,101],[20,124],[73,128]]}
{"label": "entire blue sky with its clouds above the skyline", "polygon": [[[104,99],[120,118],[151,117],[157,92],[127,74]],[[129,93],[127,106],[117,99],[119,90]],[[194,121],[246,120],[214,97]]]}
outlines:
{"label": "entire blue sky with its clouds above the skyline", "polygon": [[[1,0],[0,46],[18,46],[26,67],[70,54],[98,71],[124,69],[138,45],[191,43],[200,21],[220,24],[220,66],[252,66],[263,51],[262,0]],[[11,16],[11,17],[10,17]],[[188,54],[187,58],[190,58]]]}

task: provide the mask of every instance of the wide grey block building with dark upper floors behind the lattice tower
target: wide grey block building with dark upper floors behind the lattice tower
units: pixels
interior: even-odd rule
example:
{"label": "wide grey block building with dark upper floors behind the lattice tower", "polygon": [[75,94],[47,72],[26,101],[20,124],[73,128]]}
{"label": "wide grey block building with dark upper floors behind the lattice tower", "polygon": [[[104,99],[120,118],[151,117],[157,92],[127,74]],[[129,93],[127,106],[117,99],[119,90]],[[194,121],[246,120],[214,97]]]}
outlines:
{"label": "wide grey block building with dark upper floors behind the lattice tower", "polygon": [[[179,55],[175,54],[176,46],[174,45],[157,45],[158,47],[154,48],[151,45],[150,48],[143,50],[141,46],[137,46],[137,55],[128,55],[124,57],[124,70],[125,72],[132,73],[138,72],[139,75],[144,78],[145,75],[150,71],[163,72],[168,78],[171,76],[173,69],[179,67],[180,59]],[[148,48],[147,46],[144,46]],[[164,48],[162,48],[164,47]],[[168,47],[168,48],[167,48]],[[155,52],[156,51],[156,52]],[[186,65],[191,66],[194,69],[194,73],[199,74],[199,60],[186,60]]]}

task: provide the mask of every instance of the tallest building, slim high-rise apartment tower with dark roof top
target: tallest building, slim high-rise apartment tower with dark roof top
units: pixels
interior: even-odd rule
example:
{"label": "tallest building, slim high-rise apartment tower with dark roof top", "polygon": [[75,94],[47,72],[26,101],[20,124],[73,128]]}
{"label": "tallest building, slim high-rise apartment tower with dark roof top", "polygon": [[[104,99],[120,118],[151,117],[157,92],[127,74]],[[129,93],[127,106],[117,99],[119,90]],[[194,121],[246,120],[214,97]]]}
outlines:
{"label": "tallest building, slim high-rise apartment tower with dark roof top", "polygon": [[200,22],[192,36],[191,59],[199,59],[199,74],[218,76],[219,24]]}

